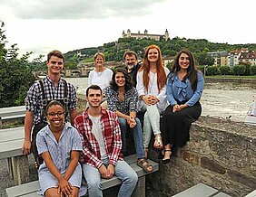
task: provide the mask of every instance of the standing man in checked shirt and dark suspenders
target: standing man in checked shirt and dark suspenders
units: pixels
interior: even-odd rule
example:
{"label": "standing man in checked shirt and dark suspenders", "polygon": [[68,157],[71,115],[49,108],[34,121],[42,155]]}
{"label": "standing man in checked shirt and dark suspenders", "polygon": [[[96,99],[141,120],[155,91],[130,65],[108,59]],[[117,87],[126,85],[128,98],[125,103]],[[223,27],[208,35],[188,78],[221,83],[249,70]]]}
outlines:
{"label": "standing man in checked shirt and dark suspenders", "polygon": [[[62,52],[49,52],[46,65],[48,67],[47,76],[42,80],[35,81],[27,91],[25,98],[26,113],[23,153],[29,155],[32,149],[36,167],[43,163],[43,159],[38,156],[35,136],[41,128],[47,125],[44,116],[44,109],[47,104],[53,99],[60,101],[64,105],[65,112],[69,113],[72,125],[74,125],[74,117],[77,114],[74,86],[61,78],[61,71],[64,69],[64,55]],[[59,116],[59,114],[56,115]],[[32,129],[33,132],[31,132]]]}

